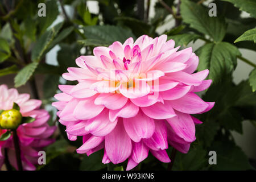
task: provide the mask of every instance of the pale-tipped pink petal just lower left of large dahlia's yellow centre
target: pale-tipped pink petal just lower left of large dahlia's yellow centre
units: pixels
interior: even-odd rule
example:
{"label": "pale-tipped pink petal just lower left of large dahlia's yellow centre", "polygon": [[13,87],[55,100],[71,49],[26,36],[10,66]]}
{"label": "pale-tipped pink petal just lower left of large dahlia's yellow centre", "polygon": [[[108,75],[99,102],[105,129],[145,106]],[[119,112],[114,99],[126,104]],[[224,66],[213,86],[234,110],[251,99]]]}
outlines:
{"label": "pale-tipped pink petal just lower left of large dahlia's yellow centre", "polygon": [[104,105],[108,109],[121,109],[127,102],[127,98],[122,94],[103,93],[100,94],[94,101],[96,105]]}

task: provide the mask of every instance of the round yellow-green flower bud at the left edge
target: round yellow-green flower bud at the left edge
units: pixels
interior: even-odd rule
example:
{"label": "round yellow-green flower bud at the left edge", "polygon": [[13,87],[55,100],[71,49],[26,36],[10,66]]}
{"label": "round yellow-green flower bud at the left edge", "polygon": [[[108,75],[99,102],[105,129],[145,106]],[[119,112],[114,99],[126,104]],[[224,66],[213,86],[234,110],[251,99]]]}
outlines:
{"label": "round yellow-green flower bud at the left edge", "polygon": [[16,129],[22,122],[22,114],[16,109],[5,110],[0,115],[2,129]]}

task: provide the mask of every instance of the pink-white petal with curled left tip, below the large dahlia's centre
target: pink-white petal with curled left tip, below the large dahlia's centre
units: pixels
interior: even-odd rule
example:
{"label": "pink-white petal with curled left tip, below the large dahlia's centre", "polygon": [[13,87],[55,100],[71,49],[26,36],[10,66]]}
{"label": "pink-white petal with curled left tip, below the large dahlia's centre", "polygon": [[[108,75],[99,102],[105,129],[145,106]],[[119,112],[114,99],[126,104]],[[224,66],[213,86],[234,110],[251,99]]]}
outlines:
{"label": "pink-white petal with curled left tip, below the large dahlia's centre", "polygon": [[109,110],[110,121],[115,121],[118,117],[131,118],[137,115],[139,107],[134,105],[131,101],[127,101],[126,105],[121,109]]}

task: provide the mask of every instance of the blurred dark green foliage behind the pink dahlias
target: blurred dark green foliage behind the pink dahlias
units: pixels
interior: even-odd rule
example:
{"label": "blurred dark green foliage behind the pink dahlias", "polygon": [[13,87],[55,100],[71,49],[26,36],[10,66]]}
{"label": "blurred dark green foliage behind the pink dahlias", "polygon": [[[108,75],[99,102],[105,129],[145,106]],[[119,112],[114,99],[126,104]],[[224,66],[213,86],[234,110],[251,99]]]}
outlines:
{"label": "blurred dark green foliage behind the pink dahlias", "polygon": [[[46,17],[38,16],[38,5],[42,2],[46,4]],[[204,123],[196,126],[196,141],[188,154],[176,154],[173,169],[253,169],[255,160],[247,158],[231,132],[243,134],[245,119],[256,126],[255,60],[245,59],[238,50],[256,51],[256,1],[159,0],[154,1],[153,17],[149,17],[153,3],[150,0],[95,2],[97,13],[89,11],[85,0],[1,0],[0,77],[15,75],[17,88],[27,83],[32,97],[43,100],[43,106],[51,114],[49,124],[58,125],[51,102],[59,92],[58,84],[76,84],[61,78],[68,67],[76,67],[76,57],[91,55],[96,46],[109,46],[117,40],[124,42],[129,37],[136,39],[147,34],[154,38],[159,36],[160,26],[173,20],[174,26],[167,26],[164,34],[174,39],[176,46],[184,48],[191,42],[203,40],[203,46],[196,49],[200,59],[197,71],[209,69],[208,78],[213,84],[200,96],[216,102],[208,113],[195,115]],[[209,2],[216,3],[217,17],[208,15]],[[250,15],[244,18],[242,11]],[[47,53],[56,46],[59,47],[57,63],[47,63]],[[232,78],[237,61],[254,68],[240,84],[234,84]],[[44,79],[42,90],[38,90],[35,76]],[[39,98],[42,91],[43,96]],[[122,170],[126,166],[126,162],[118,166],[102,164],[102,151],[89,157],[76,154],[82,139],[69,141],[65,127],[58,126],[56,142],[46,148],[47,164],[39,166],[39,170]],[[208,163],[211,150],[217,152],[217,165]],[[171,151],[170,147],[168,153],[172,159]],[[167,166],[150,155],[135,170],[166,170]]]}

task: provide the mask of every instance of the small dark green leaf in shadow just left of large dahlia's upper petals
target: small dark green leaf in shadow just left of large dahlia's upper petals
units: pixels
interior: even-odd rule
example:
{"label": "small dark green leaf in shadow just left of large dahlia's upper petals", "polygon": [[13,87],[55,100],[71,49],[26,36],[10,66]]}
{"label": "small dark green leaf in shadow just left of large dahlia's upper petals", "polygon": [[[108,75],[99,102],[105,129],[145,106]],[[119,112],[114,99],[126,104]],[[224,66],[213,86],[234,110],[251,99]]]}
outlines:
{"label": "small dark green leaf in shadow just left of large dahlia's upper petals", "polygon": [[44,78],[44,84],[43,84],[44,98],[51,98],[56,94],[58,89],[59,79],[60,79],[59,75],[46,75],[46,78]]}

